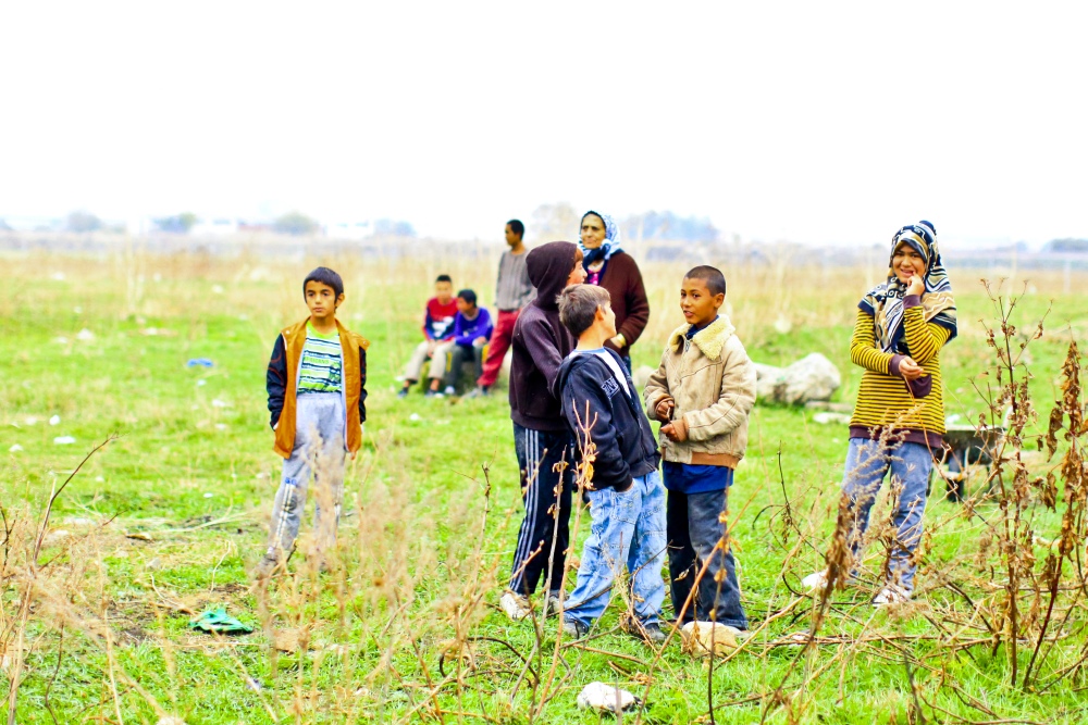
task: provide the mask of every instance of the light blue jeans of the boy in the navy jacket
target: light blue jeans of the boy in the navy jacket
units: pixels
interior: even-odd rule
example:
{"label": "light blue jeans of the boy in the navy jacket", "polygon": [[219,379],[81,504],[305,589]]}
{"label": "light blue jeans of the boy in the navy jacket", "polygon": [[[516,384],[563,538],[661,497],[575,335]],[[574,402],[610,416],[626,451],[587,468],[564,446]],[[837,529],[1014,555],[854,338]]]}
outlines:
{"label": "light blue jeans of the boy in the navy jacket", "polygon": [[618,492],[603,488],[586,492],[593,525],[585,540],[578,585],[564,607],[564,616],[590,625],[604,614],[616,576],[627,564],[631,573],[634,616],[643,625],[657,624],[665,601],[665,487],[652,471]]}

